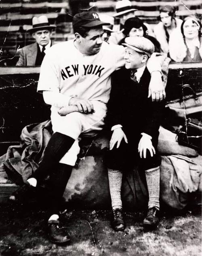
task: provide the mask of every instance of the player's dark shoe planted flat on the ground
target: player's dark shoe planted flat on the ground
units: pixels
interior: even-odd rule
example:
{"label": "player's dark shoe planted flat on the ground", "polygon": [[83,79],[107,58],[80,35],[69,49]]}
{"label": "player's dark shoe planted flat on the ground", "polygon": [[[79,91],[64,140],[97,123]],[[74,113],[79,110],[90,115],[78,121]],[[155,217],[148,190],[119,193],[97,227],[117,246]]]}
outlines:
{"label": "player's dark shoe planted flat on the ground", "polygon": [[48,221],[48,238],[52,243],[64,245],[69,243],[70,238],[65,233],[64,228],[59,227],[59,220],[49,220]]}

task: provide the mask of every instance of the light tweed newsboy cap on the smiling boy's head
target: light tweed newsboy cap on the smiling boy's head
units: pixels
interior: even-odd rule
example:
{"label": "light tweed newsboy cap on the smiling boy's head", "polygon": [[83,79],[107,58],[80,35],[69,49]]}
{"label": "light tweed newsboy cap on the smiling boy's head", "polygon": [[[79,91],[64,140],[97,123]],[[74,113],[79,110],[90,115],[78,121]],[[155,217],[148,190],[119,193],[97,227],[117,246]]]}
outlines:
{"label": "light tweed newsboy cap on the smiling boy's head", "polygon": [[154,53],[155,50],[154,44],[149,39],[143,36],[126,37],[125,43],[123,43],[123,45],[126,45],[127,47],[130,47],[131,49],[139,53],[144,53],[148,57],[151,57],[151,54]]}

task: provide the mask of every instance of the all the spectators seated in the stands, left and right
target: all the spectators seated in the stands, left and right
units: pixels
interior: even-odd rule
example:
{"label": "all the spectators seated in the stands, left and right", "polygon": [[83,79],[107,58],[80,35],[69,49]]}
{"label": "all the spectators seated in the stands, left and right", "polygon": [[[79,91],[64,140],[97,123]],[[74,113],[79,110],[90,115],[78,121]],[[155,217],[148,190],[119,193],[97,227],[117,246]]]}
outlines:
{"label": "all the spectators seated in the stands, left and right", "polygon": [[[166,55],[172,61],[201,61],[201,22],[197,15],[185,17],[181,20],[176,17],[176,8],[174,6],[161,6],[159,8],[159,23],[152,26],[143,22],[142,19],[136,17],[138,11],[133,8],[129,0],[119,0],[116,2],[116,13],[112,16],[99,14],[100,19],[107,23],[108,26],[103,26],[103,40],[109,44],[122,44],[128,36],[144,36],[148,38],[155,46],[155,52],[161,55]],[[36,19],[38,24],[36,24]],[[44,19],[42,22],[40,19]],[[117,25],[117,20],[119,24]],[[42,23],[47,23],[43,25]],[[41,27],[37,28],[37,26]],[[114,25],[115,24],[115,25]],[[52,46],[54,40],[50,40],[53,35],[53,30],[56,26],[49,26],[48,18],[44,15],[39,18],[33,18],[33,28],[28,29],[33,44],[21,47],[15,54],[17,66],[40,66],[42,55],[45,55],[46,49]],[[40,37],[36,38],[38,31],[46,30],[46,35],[40,33]],[[27,33],[27,34],[28,34]],[[48,39],[46,38],[48,34]],[[72,38],[70,38],[72,39]],[[36,41],[36,42],[35,42]],[[36,61],[36,58],[40,60]],[[9,66],[9,62],[4,63]],[[13,62],[12,64],[13,65]]]}

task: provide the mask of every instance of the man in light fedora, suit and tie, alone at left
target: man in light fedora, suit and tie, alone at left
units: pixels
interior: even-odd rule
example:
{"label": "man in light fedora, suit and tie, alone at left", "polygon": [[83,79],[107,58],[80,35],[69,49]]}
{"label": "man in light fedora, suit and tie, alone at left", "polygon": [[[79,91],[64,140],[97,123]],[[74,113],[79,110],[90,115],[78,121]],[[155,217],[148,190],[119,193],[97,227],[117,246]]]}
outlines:
{"label": "man in light fedora, suit and tie, alone at left", "polygon": [[32,34],[36,42],[20,50],[20,57],[16,66],[41,66],[46,50],[52,46],[50,37],[55,28],[55,25],[48,23],[48,18],[45,15],[33,17],[32,28],[27,32]]}

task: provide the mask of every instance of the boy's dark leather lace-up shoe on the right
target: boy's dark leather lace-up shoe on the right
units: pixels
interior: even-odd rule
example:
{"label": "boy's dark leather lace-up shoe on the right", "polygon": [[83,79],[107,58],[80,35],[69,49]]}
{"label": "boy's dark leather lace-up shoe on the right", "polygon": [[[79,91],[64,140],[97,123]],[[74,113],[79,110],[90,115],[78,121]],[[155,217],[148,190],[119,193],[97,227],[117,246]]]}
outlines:
{"label": "boy's dark leather lace-up shoe on the right", "polygon": [[148,209],[147,217],[143,220],[143,226],[156,228],[159,222],[159,210],[154,206]]}

